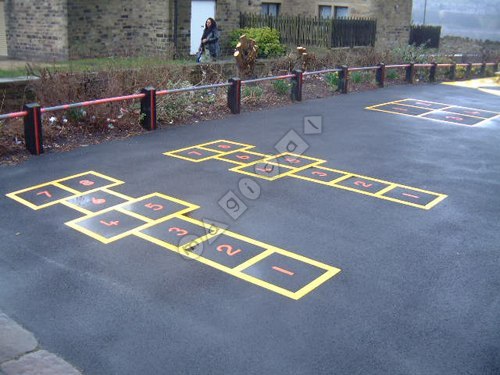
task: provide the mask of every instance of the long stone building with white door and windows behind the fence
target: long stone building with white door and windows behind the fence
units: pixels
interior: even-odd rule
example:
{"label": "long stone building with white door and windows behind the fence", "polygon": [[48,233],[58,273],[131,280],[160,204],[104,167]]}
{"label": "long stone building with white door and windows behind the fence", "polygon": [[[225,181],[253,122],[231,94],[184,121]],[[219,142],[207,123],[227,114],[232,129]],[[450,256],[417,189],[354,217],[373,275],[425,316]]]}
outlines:
{"label": "long stone building with white door and windows behind the fence", "polygon": [[[371,17],[377,46],[407,43],[411,0],[0,0],[0,55],[57,61],[112,55],[193,53],[204,20],[222,38],[240,12]],[[2,14],[3,11],[3,14]]]}

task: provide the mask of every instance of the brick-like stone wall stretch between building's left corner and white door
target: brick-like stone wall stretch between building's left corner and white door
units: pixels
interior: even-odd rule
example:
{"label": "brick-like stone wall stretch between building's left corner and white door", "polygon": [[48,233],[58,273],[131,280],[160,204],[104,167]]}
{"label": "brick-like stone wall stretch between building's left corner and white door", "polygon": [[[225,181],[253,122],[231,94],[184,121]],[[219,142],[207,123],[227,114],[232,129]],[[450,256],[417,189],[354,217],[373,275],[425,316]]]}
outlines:
{"label": "brick-like stone wall stretch between building's left corner and white door", "polygon": [[169,0],[68,0],[70,59],[167,54]]}

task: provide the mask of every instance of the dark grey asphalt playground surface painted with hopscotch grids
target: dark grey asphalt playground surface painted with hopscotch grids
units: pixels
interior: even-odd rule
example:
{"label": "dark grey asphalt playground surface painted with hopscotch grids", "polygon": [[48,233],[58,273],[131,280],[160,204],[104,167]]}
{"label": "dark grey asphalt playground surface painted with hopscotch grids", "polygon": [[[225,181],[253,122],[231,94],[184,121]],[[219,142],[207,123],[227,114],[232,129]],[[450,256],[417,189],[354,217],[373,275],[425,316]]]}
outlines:
{"label": "dark grey asphalt playground surface painted with hopscotch grids", "polygon": [[[0,309],[85,374],[499,374],[500,117],[366,109],[408,98],[500,112],[479,90],[397,86],[0,168]],[[290,140],[316,164],[285,170],[308,179],[213,159]],[[177,156],[206,161],[163,154],[202,144]],[[185,213],[158,216],[169,204]],[[168,245],[207,220],[228,234]]]}

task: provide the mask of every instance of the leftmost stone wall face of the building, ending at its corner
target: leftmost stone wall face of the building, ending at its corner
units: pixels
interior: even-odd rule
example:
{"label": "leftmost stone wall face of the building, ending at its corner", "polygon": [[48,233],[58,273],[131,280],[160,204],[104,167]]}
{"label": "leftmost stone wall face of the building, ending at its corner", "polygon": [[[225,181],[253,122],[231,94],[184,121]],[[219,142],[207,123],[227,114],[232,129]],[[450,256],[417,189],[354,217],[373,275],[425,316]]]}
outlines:
{"label": "leftmost stone wall face of the building, ending at its corner", "polygon": [[68,58],[66,0],[6,0],[9,57],[55,61]]}

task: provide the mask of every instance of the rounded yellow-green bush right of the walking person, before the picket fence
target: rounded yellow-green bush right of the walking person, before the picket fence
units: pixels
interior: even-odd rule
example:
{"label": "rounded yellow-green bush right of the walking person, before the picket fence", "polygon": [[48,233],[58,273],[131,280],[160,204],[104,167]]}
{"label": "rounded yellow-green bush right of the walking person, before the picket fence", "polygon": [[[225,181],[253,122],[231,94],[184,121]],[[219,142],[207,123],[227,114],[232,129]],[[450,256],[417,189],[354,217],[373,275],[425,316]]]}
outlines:
{"label": "rounded yellow-green bush right of the walking person, before the picket fence", "polygon": [[280,43],[280,33],[270,27],[237,29],[231,33],[231,47],[236,48],[240,36],[246,35],[255,40],[259,47],[258,57],[281,56],[286,52],[286,46]]}

